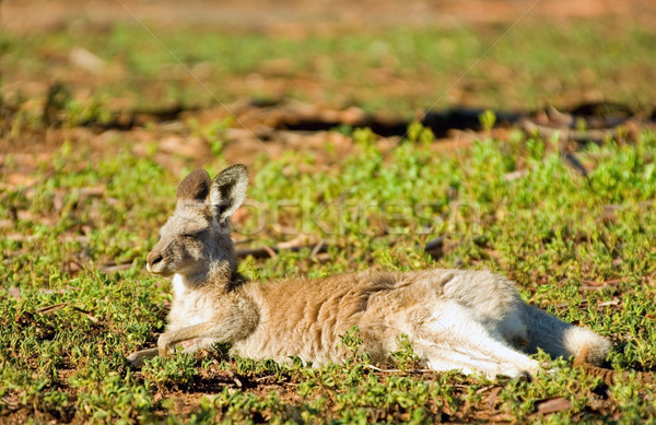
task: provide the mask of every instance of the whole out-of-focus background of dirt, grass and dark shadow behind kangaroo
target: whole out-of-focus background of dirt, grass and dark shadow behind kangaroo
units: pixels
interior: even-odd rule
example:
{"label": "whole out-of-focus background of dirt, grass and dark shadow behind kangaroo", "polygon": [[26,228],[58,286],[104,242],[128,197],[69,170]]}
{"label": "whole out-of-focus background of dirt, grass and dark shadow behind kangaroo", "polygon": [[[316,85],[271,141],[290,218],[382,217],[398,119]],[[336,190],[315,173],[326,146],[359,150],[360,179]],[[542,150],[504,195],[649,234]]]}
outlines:
{"label": "whole out-of-focus background of dirt, grass and dark shadow behind kangaroo", "polygon": [[656,98],[651,1],[4,0],[1,20],[5,151],[113,130],[248,163],[312,146],[277,130],[448,138],[549,107],[606,128]]}

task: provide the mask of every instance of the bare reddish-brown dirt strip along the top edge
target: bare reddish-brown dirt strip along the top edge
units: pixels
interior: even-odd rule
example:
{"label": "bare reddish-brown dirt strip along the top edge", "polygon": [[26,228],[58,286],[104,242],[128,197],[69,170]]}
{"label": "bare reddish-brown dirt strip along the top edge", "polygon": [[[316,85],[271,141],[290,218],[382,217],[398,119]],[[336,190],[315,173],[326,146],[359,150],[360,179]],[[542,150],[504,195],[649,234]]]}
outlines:
{"label": "bare reddish-brown dirt strip along the top edge", "polygon": [[46,32],[77,23],[133,22],[208,25],[242,31],[303,33],[351,27],[449,25],[612,16],[656,22],[651,0],[4,0],[1,23],[10,33]]}

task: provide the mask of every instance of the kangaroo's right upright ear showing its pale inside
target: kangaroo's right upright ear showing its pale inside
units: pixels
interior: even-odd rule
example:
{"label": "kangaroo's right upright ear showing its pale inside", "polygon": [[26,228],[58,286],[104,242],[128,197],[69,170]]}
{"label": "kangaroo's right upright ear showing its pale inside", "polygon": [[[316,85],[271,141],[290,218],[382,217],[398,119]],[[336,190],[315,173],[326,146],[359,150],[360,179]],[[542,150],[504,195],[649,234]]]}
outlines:
{"label": "kangaroo's right upright ear showing its pale inside", "polygon": [[248,169],[235,164],[219,173],[210,189],[210,208],[212,215],[223,222],[234,213],[246,197]]}

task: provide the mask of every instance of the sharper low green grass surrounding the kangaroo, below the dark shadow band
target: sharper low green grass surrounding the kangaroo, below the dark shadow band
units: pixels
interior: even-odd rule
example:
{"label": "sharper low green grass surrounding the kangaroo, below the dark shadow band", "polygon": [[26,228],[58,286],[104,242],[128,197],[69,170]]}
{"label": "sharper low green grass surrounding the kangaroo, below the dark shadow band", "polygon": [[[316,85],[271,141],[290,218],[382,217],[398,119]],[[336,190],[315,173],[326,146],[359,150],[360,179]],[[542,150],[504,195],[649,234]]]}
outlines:
{"label": "sharper low green grass surrounding the kangaroo, below the dark shadow band", "polygon": [[[370,265],[488,268],[514,279],[525,299],[610,337],[613,368],[656,367],[656,133],[645,131],[632,145],[588,146],[581,154],[595,167],[588,178],[549,153],[549,142],[526,137],[515,143],[484,139],[443,155],[427,144],[405,142],[383,162],[371,137],[354,139],[362,153],[345,158],[341,168],[304,173],[300,166],[313,160],[296,155],[254,167],[249,197],[259,202],[260,213],[283,201],[294,205],[267,220],[294,223],[331,248],[325,262],[311,259],[308,251],[249,258],[242,265],[246,275],[267,281],[303,270],[318,276]],[[25,409],[37,420],[62,421],[422,423],[476,420],[491,410],[500,417],[538,421],[536,405],[561,397],[571,409],[551,414],[550,421],[654,418],[653,386],[626,378],[608,396],[598,396],[598,381],[565,361],[531,382],[501,383],[412,368],[382,374],[358,355],[347,366],[308,369],[178,354],[130,370],[124,356],[153,344],[164,326],[168,284],[145,273],[144,259],[171,212],[180,176],[121,149],[118,156],[98,157],[63,146],[52,166],[44,164],[33,176],[32,186],[2,194],[0,213],[21,214],[15,231],[2,229],[0,414]],[[223,165],[216,157],[208,167]],[[505,176],[517,169],[524,177],[507,181]],[[90,186],[105,190],[82,196]],[[339,208],[329,203],[320,223],[303,220],[306,209],[323,208],[340,193],[348,196]],[[608,205],[614,205],[613,216],[605,216]],[[254,227],[256,219],[248,212],[241,226]],[[255,237],[269,243],[292,236],[268,228]],[[418,248],[435,236],[453,243],[438,261]],[[103,272],[101,264],[108,260],[129,265]],[[71,271],[71,262],[85,265]],[[585,281],[610,284],[593,291],[584,288]],[[356,352],[356,339],[347,343]],[[403,364],[408,356],[396,357]],[[214,396],[187,406],[190,416],[179,416],[175,397],[210,385],[211,373],[214,379],[236,374],[242,385],[219,381],[207,390]],[[270,383],[262,388],[260,379]],[[482,409],[495,388],[492,409]]]}

